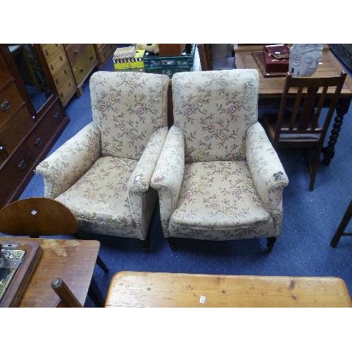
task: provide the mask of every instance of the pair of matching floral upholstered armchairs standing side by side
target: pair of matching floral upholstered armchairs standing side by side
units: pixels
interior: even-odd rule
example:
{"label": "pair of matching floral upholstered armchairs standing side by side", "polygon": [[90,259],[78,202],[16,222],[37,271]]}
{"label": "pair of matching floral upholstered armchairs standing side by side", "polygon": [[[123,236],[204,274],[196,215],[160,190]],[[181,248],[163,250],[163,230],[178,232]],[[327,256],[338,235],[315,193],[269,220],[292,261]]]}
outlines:
{"label": "pair of matching floral upholstered armchairs standing side by side", "polygon": [[168,239],[268,237],[272,249],[288,180],[257,122],[258,73],[176,73],[170,130],[169,81],[94,73],[93,122],[37,166],[45,196],[65,203],[83,230],[136,238],[144,249],[158,198]]}

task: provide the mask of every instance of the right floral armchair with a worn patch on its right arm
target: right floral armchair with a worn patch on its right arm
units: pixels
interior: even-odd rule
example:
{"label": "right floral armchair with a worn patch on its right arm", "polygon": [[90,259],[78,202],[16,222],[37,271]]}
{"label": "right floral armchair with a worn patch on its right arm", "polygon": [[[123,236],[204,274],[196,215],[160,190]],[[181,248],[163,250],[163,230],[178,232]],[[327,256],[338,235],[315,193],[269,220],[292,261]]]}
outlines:
{"label": "right floral armchair with a worn patch on its right arm", "polygon": [[175,122],[151,177],[170,246],[268,237],[271,250],[288,179],[257,121],[257,71],[176,73],[172,96]]}

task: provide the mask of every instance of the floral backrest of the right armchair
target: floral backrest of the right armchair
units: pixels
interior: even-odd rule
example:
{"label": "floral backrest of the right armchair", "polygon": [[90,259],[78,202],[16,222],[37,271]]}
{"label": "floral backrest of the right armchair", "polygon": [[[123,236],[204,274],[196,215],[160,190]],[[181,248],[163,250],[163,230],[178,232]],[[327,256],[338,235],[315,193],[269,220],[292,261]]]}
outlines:
{"label": "floral backrest of the right armchair", "polygon": [[185,162],[246,158],[246,131],[258,120],[257,70],[175,73],[174,124]]}

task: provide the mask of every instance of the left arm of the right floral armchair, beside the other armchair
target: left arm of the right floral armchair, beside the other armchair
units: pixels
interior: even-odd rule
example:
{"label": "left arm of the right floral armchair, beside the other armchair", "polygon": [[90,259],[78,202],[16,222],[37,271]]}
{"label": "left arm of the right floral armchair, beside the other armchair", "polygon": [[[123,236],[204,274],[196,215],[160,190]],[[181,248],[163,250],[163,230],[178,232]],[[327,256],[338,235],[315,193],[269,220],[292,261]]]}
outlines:
{"label": "left arm of the right floral armchair, beside the other armchair", "polygon": [[168,222],[177,206],[184,173],[184,135],[172,126],[151,177],[151,187],[159,194],[161,224],[168,237]]}

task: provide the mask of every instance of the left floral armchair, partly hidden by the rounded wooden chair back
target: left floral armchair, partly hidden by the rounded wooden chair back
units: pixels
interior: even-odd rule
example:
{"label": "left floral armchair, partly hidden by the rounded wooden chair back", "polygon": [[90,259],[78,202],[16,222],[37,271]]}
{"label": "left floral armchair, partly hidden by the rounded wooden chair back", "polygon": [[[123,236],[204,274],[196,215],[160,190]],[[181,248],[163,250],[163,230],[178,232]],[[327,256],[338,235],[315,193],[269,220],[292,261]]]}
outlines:
{"label": "left floral armchair, partly hidden by the rounded wooden chair back", "polygon": [[90,79],[93,121],[37,166],[44,195],[64,203],[80,229],[142,241],[156,191],[149,187],[168,134],[169,78],[97,72]]}

